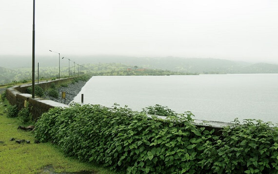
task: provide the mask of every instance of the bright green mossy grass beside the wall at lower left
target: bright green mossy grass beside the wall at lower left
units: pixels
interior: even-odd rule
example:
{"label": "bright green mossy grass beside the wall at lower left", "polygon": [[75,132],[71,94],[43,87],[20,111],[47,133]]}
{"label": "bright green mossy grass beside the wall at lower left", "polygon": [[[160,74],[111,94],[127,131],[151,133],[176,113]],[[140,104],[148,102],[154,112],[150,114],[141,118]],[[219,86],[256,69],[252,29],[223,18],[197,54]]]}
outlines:
{"label": "bright green mossy grass beside the wall at lower left", "polygon": [[[94,174],[112,174],[101,167],[79,162],[63,153],[50,143],[34,143],[31,132],[18,130],[20,121],[7,118],[3,113],[6,102],[0,102],[0,173],[1,174],[37,174],[45,166],[52,165],[55,172],[92,171]],[[11,138],[28,139],[30,144],[16,144]]]}

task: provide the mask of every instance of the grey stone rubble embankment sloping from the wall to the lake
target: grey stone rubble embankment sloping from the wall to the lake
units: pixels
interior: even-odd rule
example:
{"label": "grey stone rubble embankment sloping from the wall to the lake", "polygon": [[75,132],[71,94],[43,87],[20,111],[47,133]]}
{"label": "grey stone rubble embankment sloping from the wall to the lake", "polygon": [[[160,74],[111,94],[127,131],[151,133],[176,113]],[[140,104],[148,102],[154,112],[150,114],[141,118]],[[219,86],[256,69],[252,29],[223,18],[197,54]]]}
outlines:
{"label": "grey stone rubble embankment sloping from the wall to the lake", "polygon": [[[75,98],[75,96],[77,96],[77,94],[81,91],[81,88],[86,84],[86,82],[84,81],[79,81],[75,84],[68,84],[67,87],[59,87],[58,93],[59,93],[59,98],[54,98],[49,96],[47,93],[45,94],[45,98],[48,100],[53,100],[55,102],[59,102],[59,103],[64,103],[65,100],[61,100],[61,96],[62,96],[62,91],[66,92],[66,102],[65,104],[69,104],[71,101],[73,101],[73,99]],[[62,101],[62,102],[61,102]]]}

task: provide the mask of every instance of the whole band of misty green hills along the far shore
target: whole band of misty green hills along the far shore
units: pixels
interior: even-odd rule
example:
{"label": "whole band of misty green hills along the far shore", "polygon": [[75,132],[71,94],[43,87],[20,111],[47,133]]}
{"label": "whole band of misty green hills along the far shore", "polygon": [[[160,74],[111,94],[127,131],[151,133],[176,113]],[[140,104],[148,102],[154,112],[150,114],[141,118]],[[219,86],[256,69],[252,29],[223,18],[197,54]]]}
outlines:
{"label": "whole band of misty green hills along the far shore", "polygon": [[[26,67],[26,57],[11,57],[5,61],[3,65],[10,67],[0,67],[0,84],[10,83],[12,81],[31,80],[31,68]],[[55,78],[58,76],[58,59],[45,58],[40,60],[40,78]],[[75,60],[73,58],[73,60]],[[45,61],[45,62],[43,62]],[[278,73],[277,64],[268,63],[247,63],[240,61],[230,61],[213,58],[179,58],[179,57],[127,57],[127,56],[109,56],[109,55],[95,55],[86,56],[78,59],[79,65],[83,65],[95,75],[109,75],[109,74],[130,74],[124,72],[127,68],[138,66],[148,70],[168,70],[172,72],[179,72],[180,74],[226,74],[226,73]],[[61,77],[68,76],[68,62],[61,61]],[[21,64],[22,63],[22,64]],[[3,66],[1,64],[1,66]],[[9,66],[10,65],[10,66]],[[21,68],[16,66],[21,65]],[[46,66],[48,65],[48,66]],[[80,71],[80,70],[79,70]],[[171,72],[171,73],[172,73]],[[37,66],[36,66],[37,78]],[[162,71],[156,71],[145,74],[159,74]],[[164,72],[163,72],[164,73]],[[162,74],[163,74],[162,73]],[[70,75],[74,74],[74,64],[70,64]],[[78,66],[76,65],[76,74],[78,74]],[[138,74],[138,73],[135,73]],[[166,73],[168,74],[168,72]]]}

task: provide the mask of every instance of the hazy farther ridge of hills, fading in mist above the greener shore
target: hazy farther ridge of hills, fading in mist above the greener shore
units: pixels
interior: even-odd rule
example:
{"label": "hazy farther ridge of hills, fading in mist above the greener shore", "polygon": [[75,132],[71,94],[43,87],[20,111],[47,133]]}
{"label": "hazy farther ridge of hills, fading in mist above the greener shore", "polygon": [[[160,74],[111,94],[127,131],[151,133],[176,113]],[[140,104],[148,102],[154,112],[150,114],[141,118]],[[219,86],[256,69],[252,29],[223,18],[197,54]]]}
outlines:
{"label": "hazy farther ridge of hills, fading in mist above the greener shore", "polygon": [[149,69],[181,71],[185,73],[278,73],[277,64],[248,63],[214,58],[180,58],[180,57],[114,57],[91,56],[82,61],[88,63],[121,63]]}

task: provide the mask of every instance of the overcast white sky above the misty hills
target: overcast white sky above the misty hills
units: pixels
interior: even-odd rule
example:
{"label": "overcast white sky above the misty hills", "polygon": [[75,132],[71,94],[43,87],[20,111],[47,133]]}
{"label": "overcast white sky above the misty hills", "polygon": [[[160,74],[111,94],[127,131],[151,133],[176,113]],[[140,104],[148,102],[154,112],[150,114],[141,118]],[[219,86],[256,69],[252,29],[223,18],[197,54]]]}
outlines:
{"label": "overcast white sky above the misty hills", "polygon": [[[0,55],[32,55],[32,15],[33,0],[1,0]],[[48,50],[278,63],[278,0],[37,0]]]}

